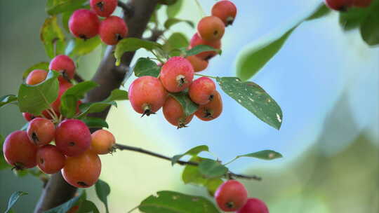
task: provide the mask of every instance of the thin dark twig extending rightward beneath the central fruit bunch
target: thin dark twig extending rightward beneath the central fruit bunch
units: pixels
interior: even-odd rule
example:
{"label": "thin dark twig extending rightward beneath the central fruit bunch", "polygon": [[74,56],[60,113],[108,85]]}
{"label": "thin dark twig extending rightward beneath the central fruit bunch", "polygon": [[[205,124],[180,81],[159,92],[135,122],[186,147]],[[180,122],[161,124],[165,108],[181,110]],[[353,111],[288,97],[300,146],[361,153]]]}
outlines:
{"label": "thin dark twig extending rightward beneath the central fruit bunch", "polygon": [[[154,156],[156,158],[161,158],[164,160],[170,160],[170,161],[172,160],[172,158],[170,158],[168,156],[161,155],[160,153],[154,153],[152,151],[148,151],[148,150],[145,150],[145,149],[142,149],[139,147],[135,147],[135,146],[127,146],[127,145],[123,145],[123,144],[116,144],[115,147],[116,147],[116,149],[119,149],[121,151],[122,150],[135,151],[135,152],[147,154],[149,156]],[[197,162],[185,161],[185,160],[178,160],[176,163],[178,163],[179,165],[194,165],[194,166],[199,165],[199,163],[197,163]],[[261,177],[258,177],[256,175],[247,176],[244,174],[235,174],[233,172],[228,172],[227,177],[229,177],[230,179],[239,178],[239,179],[251,179],[251,180],[256,180],[256,181],[262,180]]]}

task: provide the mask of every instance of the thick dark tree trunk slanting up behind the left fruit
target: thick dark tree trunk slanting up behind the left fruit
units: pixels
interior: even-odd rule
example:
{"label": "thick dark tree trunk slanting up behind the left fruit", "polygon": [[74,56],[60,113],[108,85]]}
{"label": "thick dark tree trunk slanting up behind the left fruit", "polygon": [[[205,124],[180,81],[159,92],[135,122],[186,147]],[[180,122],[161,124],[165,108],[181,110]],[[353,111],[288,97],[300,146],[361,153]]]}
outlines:
{"label": "thick dark tree trunk slanting up behind the left fruit", "polygon": [[[157,0],[130,0],[126,6],[128,11],[126,11],[124,19],[129,29],[128,37],[141,38],[149,22],[149,18],[157,6]],[[93,76],[93,81],[99,83],[100,86],[88,92],[85,102],[98,102],[108,97],[112,90],[120,87],[124,76],[128,73],[128,67],[135,53],[125,53],[121,59],[121,66],[116,67],[114,65],[115,59],[112,54],[113,50],[114,46],[107,48],[105,57],[100,63],[95,76]],[[108,111],[109,109],[91,116],[106,118]],[[39,198],[34,213],[44,212],[47,209],[61,205],[74,197],[76,191],[77,188],[67,184],[60,172],[53,174],[42,191],[41,198]]]}

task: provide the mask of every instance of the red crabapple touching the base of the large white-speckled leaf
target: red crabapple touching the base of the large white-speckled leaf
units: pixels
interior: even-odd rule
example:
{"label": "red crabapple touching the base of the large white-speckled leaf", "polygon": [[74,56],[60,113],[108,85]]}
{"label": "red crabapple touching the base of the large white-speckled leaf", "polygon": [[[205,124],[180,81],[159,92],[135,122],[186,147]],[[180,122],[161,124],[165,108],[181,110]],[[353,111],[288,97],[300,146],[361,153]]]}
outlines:
{"label": "red crabapple touching the base of the large white-speckled leaf", "polygon": [[208,77],[197,78],[189,86],[188,95],[197,104],[208,104],[215,95],[215,83]]}

